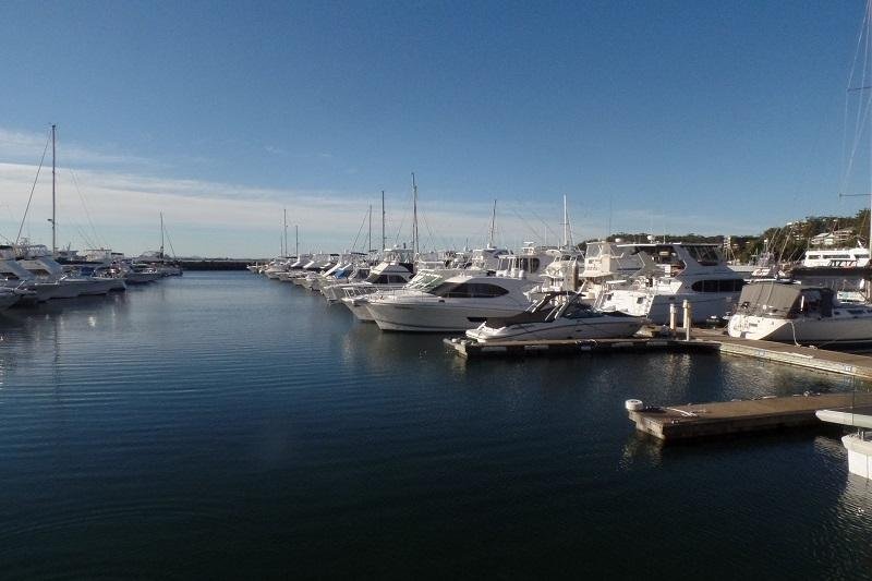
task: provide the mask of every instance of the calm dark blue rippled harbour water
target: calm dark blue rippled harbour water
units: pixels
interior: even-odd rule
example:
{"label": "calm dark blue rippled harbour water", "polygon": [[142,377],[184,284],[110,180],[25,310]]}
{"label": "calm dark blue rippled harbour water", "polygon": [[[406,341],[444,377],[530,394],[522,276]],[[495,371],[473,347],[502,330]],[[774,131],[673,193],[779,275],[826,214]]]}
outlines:
{"label": "calm dark blue rippled harbour water", "polygon": [[3,579],[872,579],[872,485],[838,434],[662,447],[622,408],[849,379],[467,363],[247,273],[12,310],[0,332]]}

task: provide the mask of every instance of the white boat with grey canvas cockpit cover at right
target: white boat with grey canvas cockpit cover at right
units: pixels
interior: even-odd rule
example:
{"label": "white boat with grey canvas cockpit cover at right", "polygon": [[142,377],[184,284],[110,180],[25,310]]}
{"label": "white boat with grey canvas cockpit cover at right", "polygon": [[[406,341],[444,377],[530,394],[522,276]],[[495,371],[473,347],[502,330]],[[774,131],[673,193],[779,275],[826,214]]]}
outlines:
{"label": "white boat with grey canvas cockpit cover at right", "polygon": [[872,344],[872,306],[844,304],[826,287],[755,282],[742,289],[730,337],[801,344]]}

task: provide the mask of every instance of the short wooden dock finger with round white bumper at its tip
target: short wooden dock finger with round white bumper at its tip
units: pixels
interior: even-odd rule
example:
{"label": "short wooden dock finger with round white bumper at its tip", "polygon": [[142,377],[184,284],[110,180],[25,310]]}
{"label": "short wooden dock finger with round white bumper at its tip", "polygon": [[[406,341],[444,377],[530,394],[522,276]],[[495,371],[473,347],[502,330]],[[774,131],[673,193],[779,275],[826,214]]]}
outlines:
{"label": "short wooden dock finger with round white bumper at its tip", "polygon": [[790,427],[824,426],[821,409],[872,413],[872,394],[807,394],[754,400],[649,407],[629,411],[637,429],[662,440],[682,440]]}

